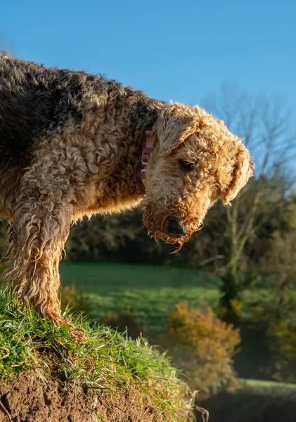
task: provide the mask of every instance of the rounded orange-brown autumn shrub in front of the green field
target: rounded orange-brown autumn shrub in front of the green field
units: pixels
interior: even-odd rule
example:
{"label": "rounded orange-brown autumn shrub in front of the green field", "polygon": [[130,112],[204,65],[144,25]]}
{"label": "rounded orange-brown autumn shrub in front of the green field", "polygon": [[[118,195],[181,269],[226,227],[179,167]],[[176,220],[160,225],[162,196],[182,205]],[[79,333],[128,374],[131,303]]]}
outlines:
{"label": "rounded orange-brown autumn shrub in front of the green field", "polygon": [[240,334],[219,320],[211,308],[202,312],[177,304],[169,320],[169,335],[162,339],[162,345],[165,343],[173,362],[200,390],[199,397],[236,387],[233,356]]}

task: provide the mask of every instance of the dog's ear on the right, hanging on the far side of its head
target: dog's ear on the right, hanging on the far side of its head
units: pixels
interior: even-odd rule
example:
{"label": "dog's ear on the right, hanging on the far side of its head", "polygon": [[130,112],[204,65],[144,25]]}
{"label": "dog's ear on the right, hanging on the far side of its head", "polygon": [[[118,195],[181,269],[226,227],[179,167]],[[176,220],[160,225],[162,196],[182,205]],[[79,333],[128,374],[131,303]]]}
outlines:
{"label": "dog's ear on the right, hanging on the far side of its head", "polygon": [[233,178],[225,193],[223,200],[224,205],[229,204],[231,200],[236,198],[240,189],[242,189],[245,184],[247,184],[250,177],[253,176],[254,167],[255,165],[252,162],[249,151],[247,151],[247,148],[245,148],[243,143],[238,143]]}

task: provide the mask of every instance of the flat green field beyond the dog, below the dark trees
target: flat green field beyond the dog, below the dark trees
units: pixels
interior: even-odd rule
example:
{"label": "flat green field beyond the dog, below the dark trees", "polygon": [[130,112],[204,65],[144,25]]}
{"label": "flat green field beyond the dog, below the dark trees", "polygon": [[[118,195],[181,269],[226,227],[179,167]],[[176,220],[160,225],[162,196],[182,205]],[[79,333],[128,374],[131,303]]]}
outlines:
{"label": "flat green field beyond the dog, below the dark trees", "polygon": [[63,287],[74,283],[87,294],[92,317],[133,309],[153,330],[164,327],[177,302],[214,306],[219,298],[219,279],[192,269],[63,262],[60,274]]}

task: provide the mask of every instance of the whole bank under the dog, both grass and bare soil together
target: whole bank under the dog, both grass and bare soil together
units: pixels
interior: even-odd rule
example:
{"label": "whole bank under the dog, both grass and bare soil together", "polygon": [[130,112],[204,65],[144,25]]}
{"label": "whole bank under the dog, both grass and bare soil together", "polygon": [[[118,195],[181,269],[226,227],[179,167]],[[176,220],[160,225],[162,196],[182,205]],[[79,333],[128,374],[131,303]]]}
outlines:
{"label": "whole bank under the dog, both grass and bare soil together", "polygon": [[[65,420],[94,420],[91,414],[79,414],[87,408],[97,421],[188,421],[188,389],[164,355],[143,340],[128,340],[105,326],[75,324],[85,330],[86,341],[78,343],[69,328],[40,319],[34,309],[20,311],[7,293],[1,293],[0,421],[6,416],[7,421],[59,420],[54,415],[60,395],[63,411],[70,412],[68,419],[63,414]],[[41,402],[36,403],[39,396]],[[44,413],[54,406],[50,414]],[[22,419],[15,416],[20,409]]]}

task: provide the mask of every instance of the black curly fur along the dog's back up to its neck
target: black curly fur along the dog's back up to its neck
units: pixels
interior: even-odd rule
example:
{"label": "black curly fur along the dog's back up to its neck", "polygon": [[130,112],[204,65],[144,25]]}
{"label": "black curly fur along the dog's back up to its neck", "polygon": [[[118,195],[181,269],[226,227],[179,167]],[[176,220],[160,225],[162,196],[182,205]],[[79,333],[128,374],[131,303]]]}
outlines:
{"label": "black curly fur along the dog's back up to its neck", "polygon": [[36,142],[79,127],[84,113],[95,112],[108,100],[129,107],[132,135],[139,132],[143,117],[147,127],[156,120],[156,102],[141,91],[86,72],[46,68],[0,54],[1,170],[27,165]]}

